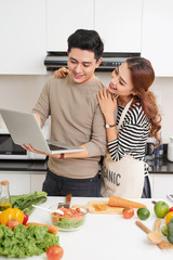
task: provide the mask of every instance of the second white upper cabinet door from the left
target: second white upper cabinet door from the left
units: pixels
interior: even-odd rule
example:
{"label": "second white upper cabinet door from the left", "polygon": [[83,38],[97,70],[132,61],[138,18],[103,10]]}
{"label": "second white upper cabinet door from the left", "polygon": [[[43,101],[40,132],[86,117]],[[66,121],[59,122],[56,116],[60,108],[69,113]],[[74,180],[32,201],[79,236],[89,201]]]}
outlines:
{"label": "second white upper cabinet door from the left", "polygon": [[77,29],[93,29],[94,0],[46,1],[48,51],[67,51],[67,38]]}

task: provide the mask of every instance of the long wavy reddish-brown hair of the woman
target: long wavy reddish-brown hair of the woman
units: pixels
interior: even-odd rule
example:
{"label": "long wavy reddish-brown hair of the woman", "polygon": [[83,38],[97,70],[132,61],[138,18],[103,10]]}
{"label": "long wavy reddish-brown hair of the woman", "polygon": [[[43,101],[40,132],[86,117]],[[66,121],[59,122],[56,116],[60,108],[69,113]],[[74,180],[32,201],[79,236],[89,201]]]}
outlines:
{"label": "long wavy reddish-brown hair of the woman", "polygon": [[149,87],[155,80],[155,72],[149,61],[144,57],[130,57],[127,60],[128,67],[131,73],[131,80],[134,87],[134,103],[139,101],[142,108],[149,119],[150,135],[155,136],[159,144],[158,135],[161,129],[161,115],[156,103],[155,94],[149,91]]}

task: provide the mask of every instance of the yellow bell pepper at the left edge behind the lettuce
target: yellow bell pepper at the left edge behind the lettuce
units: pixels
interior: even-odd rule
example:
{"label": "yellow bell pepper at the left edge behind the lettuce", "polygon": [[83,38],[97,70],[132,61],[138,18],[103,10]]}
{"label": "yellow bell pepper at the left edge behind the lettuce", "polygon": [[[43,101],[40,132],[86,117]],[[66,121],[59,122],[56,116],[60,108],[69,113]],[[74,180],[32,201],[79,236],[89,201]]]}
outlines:
{"label": "yellow bell pepper at the left edge behind the lettuce", "polygon": [[0,223],[3,225],[6,225],[6,223],[10,219],[16,219],[21,223],[23,223],[24,212],[18,208],[9,208],[9,209],[3,210],[0,214]]}

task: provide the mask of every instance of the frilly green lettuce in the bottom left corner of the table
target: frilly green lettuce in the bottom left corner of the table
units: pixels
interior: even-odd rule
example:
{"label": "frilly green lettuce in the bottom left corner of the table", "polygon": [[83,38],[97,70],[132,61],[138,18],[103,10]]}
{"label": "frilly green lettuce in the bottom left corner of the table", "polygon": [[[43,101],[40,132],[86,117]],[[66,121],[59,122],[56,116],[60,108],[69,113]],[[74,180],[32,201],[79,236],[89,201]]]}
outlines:
{"label": "frilly green lettuce in the bottom left corner of the table", "polygon": [[58,246],[58,236],[48,232],[43,225],[17,225],[14,231],[0,225],[0,256],[27,258],[40,256],[50,246]]}

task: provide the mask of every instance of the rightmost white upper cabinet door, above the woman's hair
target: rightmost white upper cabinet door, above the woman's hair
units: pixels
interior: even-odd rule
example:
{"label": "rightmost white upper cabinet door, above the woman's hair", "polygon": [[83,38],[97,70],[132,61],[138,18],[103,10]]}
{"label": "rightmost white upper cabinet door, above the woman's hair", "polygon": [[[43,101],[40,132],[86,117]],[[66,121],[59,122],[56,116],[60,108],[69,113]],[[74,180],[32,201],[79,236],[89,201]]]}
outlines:
{"label": "rightmost white upper cabinet door, above the woman's hair", "polygon": [[158,77],[173,76],[173,1],[144,0],[142,55]]}

